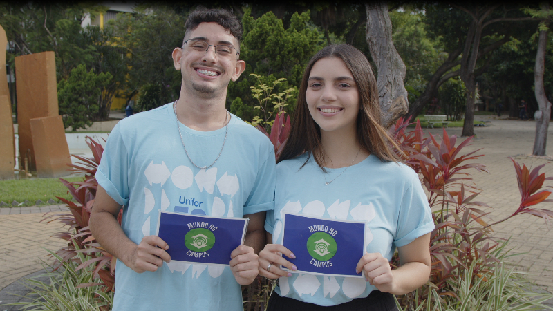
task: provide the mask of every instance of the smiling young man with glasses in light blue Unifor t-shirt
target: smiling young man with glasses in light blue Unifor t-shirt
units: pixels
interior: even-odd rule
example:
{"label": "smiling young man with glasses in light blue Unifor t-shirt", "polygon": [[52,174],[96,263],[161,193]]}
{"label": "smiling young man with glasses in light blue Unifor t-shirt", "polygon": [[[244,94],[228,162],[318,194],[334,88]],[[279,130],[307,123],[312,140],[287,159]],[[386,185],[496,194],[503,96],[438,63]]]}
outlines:
{"label": "smiling young man with glasses in light blue Unifor t-shirt", "polygon": [[[226,10],[205,9],[192,12],[186,28],[173,51],[179,99],[115,126],[96,174],[90,227],[118,258],[115,311],[243,310],[240,285],[257,275],[275,161],[265,135],[225,109],[227,86],[245,69],[242,28]],[[229,266],[171,262],[155,235],[159,210],[249,217],[245,245]]]}

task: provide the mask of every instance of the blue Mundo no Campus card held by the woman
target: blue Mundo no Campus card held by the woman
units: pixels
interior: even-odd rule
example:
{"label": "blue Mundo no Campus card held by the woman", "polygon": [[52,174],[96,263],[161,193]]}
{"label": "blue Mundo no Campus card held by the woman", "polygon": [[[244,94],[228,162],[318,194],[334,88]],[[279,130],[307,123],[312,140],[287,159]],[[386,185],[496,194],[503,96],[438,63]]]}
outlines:
{"label": "blue Mundo no Campus card held by the woman", "polygon": [[283,256],[297,272],[363,277],[355,267],[364,254],[364,222],[284,214],[283,225],[283,245],[296,258]]}

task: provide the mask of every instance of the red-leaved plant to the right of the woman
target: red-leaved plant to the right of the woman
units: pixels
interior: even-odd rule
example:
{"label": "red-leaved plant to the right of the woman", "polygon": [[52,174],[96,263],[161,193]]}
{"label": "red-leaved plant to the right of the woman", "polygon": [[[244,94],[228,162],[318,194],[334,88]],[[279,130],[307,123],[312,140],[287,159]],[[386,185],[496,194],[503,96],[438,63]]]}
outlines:
{"label": "red-leaved plant to the right of the woman", "polygon": [[[475,279],[470,280],[472,284],[478,281],[476,278],[493,273],[494,263],[499,262],[496,256],[501,254],[500,249],[503,249],[505,244],[500,244],[502,239],[491,236],[491,226],[523,213],[542,217],[547,222],[553,216],[553,211],[530,206],[551,201],[546,200],[551,192],[541,189],[545,180],[553,178],[545,178],[545,174],[539,174],[543,165],[530,172],[526,166],[521,168],[520,164],[511,159],[521,191],[521,203],[512,215],[489,225],[483,218],[489,218],[489,212],[485,209],[490,207],[474,200],[479,190],[472,185],[467,186],[467,182],[473,183],[470,174],[467,173],[469,169],[487,172],[482,164],[466,162],[480,158],[481,154],[475,154],[480,149],[462,153],[462,149],[467,147],[472,137],[456,147],[456,136],[449,136],[445,129],[438,143],[431,133],[429,138],[423,138],[418,120],[414,131],[406,132],[408,125],[408,121],[400,118],[390,132],[402,149],[396,150],[396,153],[402,153],[407,158],[406,164],[419,173],[422,184],[427,188],[435,222],[435,229],[431,232],[432,265],[429,282],[422,290],[401,299],[402,304],[409,305],[409,310],[412,310],[411,308],[418,306],[415,305],[415,301],[420,304],[427,297],[431,297],[429,291],[432,289],[440,296],[456,297],[459,276],[462,275],[463,269],[473,267],[474,273],[471,275],[474,275]],[[397,258],[392,264],[399,264]]]}

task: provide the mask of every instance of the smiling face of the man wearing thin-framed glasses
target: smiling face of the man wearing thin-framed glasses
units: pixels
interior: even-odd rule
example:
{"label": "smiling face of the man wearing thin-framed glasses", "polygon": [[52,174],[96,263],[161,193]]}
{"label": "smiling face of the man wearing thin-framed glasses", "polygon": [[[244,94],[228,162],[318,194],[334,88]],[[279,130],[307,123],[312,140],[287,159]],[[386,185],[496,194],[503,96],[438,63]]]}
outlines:
{"label": "smiling face of the man wearing thin-framed glasses", "polygon": [[[238,49],[238,40],[217,23],[200,23],[196,29],[187,32],[187,44],[173,51],[176,70],[182,74],[181,88],[186,93],[199,93],[208,97],[226,95],[227,86],[236,81],[245,69],[245,62],[236,55],[225,57],[215,53],[214,46],[226,45]],[[205,41],[213,45],[205,50],[190,46],[193,40]]]}

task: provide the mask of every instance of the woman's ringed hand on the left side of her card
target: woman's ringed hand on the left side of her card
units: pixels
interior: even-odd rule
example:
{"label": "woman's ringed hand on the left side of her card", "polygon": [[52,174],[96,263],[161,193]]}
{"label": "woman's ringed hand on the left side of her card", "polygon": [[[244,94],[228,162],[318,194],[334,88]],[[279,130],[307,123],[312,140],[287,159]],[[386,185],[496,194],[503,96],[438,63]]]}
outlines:
{"label": "woman's ringed hand on the left side of her card", "polygon": [[292,271],[295,271],[298,268],[290,263],[290,261],[284,259],[281,254],[285,254],[288,258],[296,258],[296,256],[283,245],[265,245],[265,248],[259,252],[259,265],[257,267],[259,275],[265,276],[268,279],[277,279],[281,276],[292,276],[290,272],[282,270],[280,266],[283,265]]}

